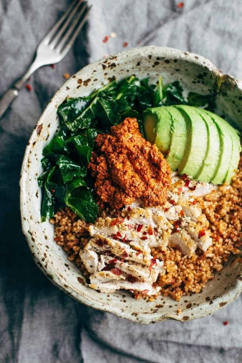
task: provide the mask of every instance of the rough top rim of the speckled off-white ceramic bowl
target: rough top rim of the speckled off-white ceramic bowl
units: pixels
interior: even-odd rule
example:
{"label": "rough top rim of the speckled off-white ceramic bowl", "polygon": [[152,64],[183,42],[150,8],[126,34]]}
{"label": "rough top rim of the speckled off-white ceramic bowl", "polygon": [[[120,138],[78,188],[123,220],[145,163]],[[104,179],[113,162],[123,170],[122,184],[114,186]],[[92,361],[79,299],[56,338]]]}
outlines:
{"label": "rough top rim of the speckled off-white ceramic bowl", "polygon": [[[156,46],[146,46],[146,47],[138,47],[138,48],[134,48],[131,50],[127,50],[124,51],[122,53],[118,53],[116,56],[109,56],[107,57],[105,60],[109,60],[109,59],[113,59],[113,57],[117,57],[117,56],[133,56],[133,55],[139,55],[140,52],[142,52],[142,54],[144,55],[148,55],[148,54],[152,54],[153,52],[159,52],[160,56],[163,56],[165,54],[166,58],[177,58],[177,59],[186,59],[189,60],[189,62],[195,63],[195,64],[199,64],[202,65],[204,67],[206,67],[207,69],[209,69],[210,72],[212,72],[212,74],[214,75],[214,77],[216,78],[220,78],[222,77],[221,72],[206,58],[199,56],[197,54],[192,54],[192,53],[188,53],[188,52],[183,52],[180,50],[176,50],[176,49],[172,49],[172,48],[168,48],[168,47],[156,47]],[[98,66],[99,64],[101,64],[104,61],[104,59],[98,60],[94,63],[91,63],[89,65],[87,65],[86,67],[82,68],[80,71],[77,72],[77,74],[75,75],[76,77],[80,77],[81,74],[85,71],[88,70],[88,72],[91,72],[93,69],[96,68],[96,66]],[[73,76],[72,76],[73,77]],[[230,77],[230,76],[229,76]],[[239,80],[234,79],[234,82],[236,82],[237,87],[241,90],[242,92],[242,82]],[[63,90],[66,89],[66,87],[69,87],[71,84],[71,79],[67,80],[63,86],[56,92],[56,94],[54,95],[54,97],[52,98],[52,100],[50,101],[49,105],[51,103],[55,103],[58,94],[62,93]],[[49,107],[49,105],[46,106],[44,112],[42,113],[41,117],[39,118],[36,126],[35,126],[35,130],[38,126],[40,126],[45,118],[45,113],[46,113],[46,109]],[[27,164],[28,164],[28,157],[29,157],[29,153],[31,150],[31,145],[33,143],[33,141],[36,138],[36,132],[33,132],[33,134],[30,137],[30,140],[28,142],[28,146],[26,148],[25,151],[25,156],[23,158],[23,162],[22,162],[22,168],[21,168],[21,177],[20,177],[20,213],[21,213],[21,224],[22,224],[22,232],[23,234],[25,234],[26,239],[28,241],[30,250],[32,253],[34,253],[36,251],[36,248],[39,252],[38,257],[36,257],[35,261],[38,264],[38,267],[41,269],[41,271],[48,277],[50,278],[51,276],[51,281],[58,286],[60,289],[62,289],[66,294],[72,296],[73,298],[75,298],[76,300],[78,300],[79,302],[87,305],[87,306],[91,306],[95,309],[99,309],[99,310],[103,310],[103,311],[108,311],[111,312],[113,314],[116,314],[119,317],[123,317],[123,318],[127,318],[129,320],[133,320],[137,322],[137,319],[133,316],[131,316],[131,314],[129,314],[129,312],[120,309],[116,306],[106,306],[105,303],[103,302],[99,302],[99,301],[94,301],[92,300],[90,297],[87,297],[82,294],[80,294],[78,291],[76,291],[74,288],[70,288],[69,286],[66,285],[66,280],[63,276],[60,276],[60,274],[58,273],[58,271],[56,271],[51,264],[48,264],[46,268],[43,268],[43,265],[41,265],[41,259],[43,257],[43,253],[41,248],[38,245],[35,245],[34,248],[32,247],[32,236],[30,233],[31,230],[31,223],[30,223],[30,216],[27,212],[27,208],[26,208],[26,202],[27,202],[27,192],[25,191],[25,182],[26,182],[26,178],[28,176],[28,168],[27,168]],[[39,262],[39,263],[38,263]],[[185,321],[185,320],[193,320],[193,319],[197,319],[197,318],[202,318],[208,314],[211,314],[213,312],[215,312],[216,310],[219,310],[220,308],[222,308],[224,305],[226,305],[229,302],[232,302],[234,299],[236,299],[236,297],[239,295],[239,293],[242,291],[242,271],[240,271],[241,274],[240,276],[238,276],[236,284],[233,285],[233,287],[231,289],[229,289],[222,297],[217,297],[216,299],[213,300],[213,304],[209,305],[207,303],[203,303],[200,306],[202,306],[202,309],[200,311],[197,312],[196,316],[189,316],[189,312],[186,311],[186,319],[184,319],[184,316],[181,314],[181,316],[179,316],[177,313],[175,312],[166,312],[166,313],[162,313],[162,312],[156,312],[153,314],[152,319],[148,318],[146,314],[144,313],[140,313],[139,314],[139,319],[138,322],[143,323],[143,324],[148,324],[148,323],[154,323],[154,322],[159,322],[159,321],[163,321],[165,319],[174,319],[174,320],[178,320],[178,321]],[[203,306],[205,308],[203,308]]]}

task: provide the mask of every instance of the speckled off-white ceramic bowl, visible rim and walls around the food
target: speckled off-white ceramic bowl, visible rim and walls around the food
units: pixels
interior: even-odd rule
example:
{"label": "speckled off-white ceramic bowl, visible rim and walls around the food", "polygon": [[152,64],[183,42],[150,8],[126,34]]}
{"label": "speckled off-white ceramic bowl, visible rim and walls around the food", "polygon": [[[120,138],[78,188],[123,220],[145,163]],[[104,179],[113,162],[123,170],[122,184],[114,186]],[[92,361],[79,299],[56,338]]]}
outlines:
{"label": "speckled off-white ceramic bowl, visible rim and walls around the food", "polygon": [[[159,297],[153,302],[135,300],[128,293],[99,293],[85,285],[81,272],[67,260],[56,245],[54,229],[40,222],[41,190],[37,177],[41,173],[42,150],[59,128],[57,107],[67,96],[88,95],[114,78],[120,80],[134,74],[156,82],[161,74],[164,84],[178,80],[185,91],[208,93],[217,89],[216,104],[220,114],[242,128],[242,84],[221,72],[207,59],[192,53],[166,47],[147,46],[131,49],[87,65],[72,76],[54,95],[34,128],[22,163],[20,207],[22,230],[34,260],[41,271],[83,304],[116,314],[139,323],[155,323],[167,318],[187,321],[202,318],[233,301],[241,291],[239,259],[234,258],[215,274],[200,294],[181,298]],[[180,308],[182,312],[177,313]]]}

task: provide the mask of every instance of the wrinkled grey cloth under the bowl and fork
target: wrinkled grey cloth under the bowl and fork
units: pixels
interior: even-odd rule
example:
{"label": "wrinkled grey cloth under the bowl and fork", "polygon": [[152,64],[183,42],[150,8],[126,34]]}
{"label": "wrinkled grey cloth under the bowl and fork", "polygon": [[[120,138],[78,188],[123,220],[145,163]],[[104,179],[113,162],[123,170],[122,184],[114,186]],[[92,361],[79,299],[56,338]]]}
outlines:
{"label": "wrinkled grey cloth under the bowl and fork", "polygon": [[[18,78],[67,0],[0,2],[0,95]],[[33,127],[52,95],[106,54],[165,45],[209,58],[242,78],[241,0],[89,0],[88,24],[66,58],[36,71],[0,120],[0,362],[240,362],[241,298],[197,321],[142,326],[87,308],[59,291],[34,264],[21,234],[18,178]],[[111,32],[116,38],[102,40]],[[228,321],[228,325],[223,325]]]}

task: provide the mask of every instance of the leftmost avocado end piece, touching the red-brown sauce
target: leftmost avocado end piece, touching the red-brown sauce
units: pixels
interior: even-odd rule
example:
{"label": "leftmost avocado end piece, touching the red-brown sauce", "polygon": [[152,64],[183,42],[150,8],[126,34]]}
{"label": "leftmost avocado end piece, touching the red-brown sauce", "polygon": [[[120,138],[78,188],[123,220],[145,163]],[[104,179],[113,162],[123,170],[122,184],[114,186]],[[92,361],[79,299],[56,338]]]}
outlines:
{"label": "leftmost avocado end piece, touching the red-brown sauce", "polygon": [[171,143],[172,117],[165,107],[148,108],[144,111],[144,133],[148,141],[155,143],[166,154]]}

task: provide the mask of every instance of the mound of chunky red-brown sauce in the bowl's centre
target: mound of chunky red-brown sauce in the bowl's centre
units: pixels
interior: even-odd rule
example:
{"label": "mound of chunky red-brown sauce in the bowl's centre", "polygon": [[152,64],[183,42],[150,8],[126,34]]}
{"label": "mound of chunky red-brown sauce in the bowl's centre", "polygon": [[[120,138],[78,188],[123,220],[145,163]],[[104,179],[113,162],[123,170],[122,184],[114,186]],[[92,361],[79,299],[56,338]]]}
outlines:
{"label": "mound of chunky red-brown sauce in the bowl's centre", "polygon": [[136,199],[163,205],[171,186],[171,168],[156,145],[144,139],[136,118],[127,117],[110,134],[99,134],[89,164],[100,208],[120,209]]}

